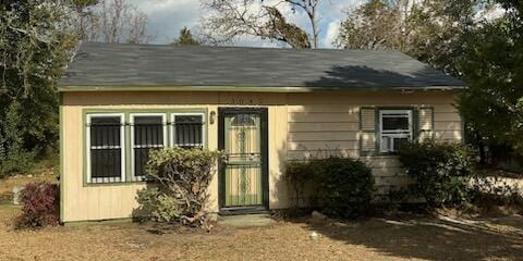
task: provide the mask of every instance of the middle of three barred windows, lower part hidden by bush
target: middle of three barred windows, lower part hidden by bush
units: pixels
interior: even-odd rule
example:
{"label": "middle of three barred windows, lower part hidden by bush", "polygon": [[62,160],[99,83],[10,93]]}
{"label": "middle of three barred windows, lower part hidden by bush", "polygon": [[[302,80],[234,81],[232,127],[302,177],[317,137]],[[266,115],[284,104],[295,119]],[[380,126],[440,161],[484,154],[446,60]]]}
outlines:
{"label": "middle of three barred windows, lower part hidden by bush", "polygon": [[144,181],[149,152],[167,145],[167,123],[162,113],[131,114],[131,161],[133,181]]}

